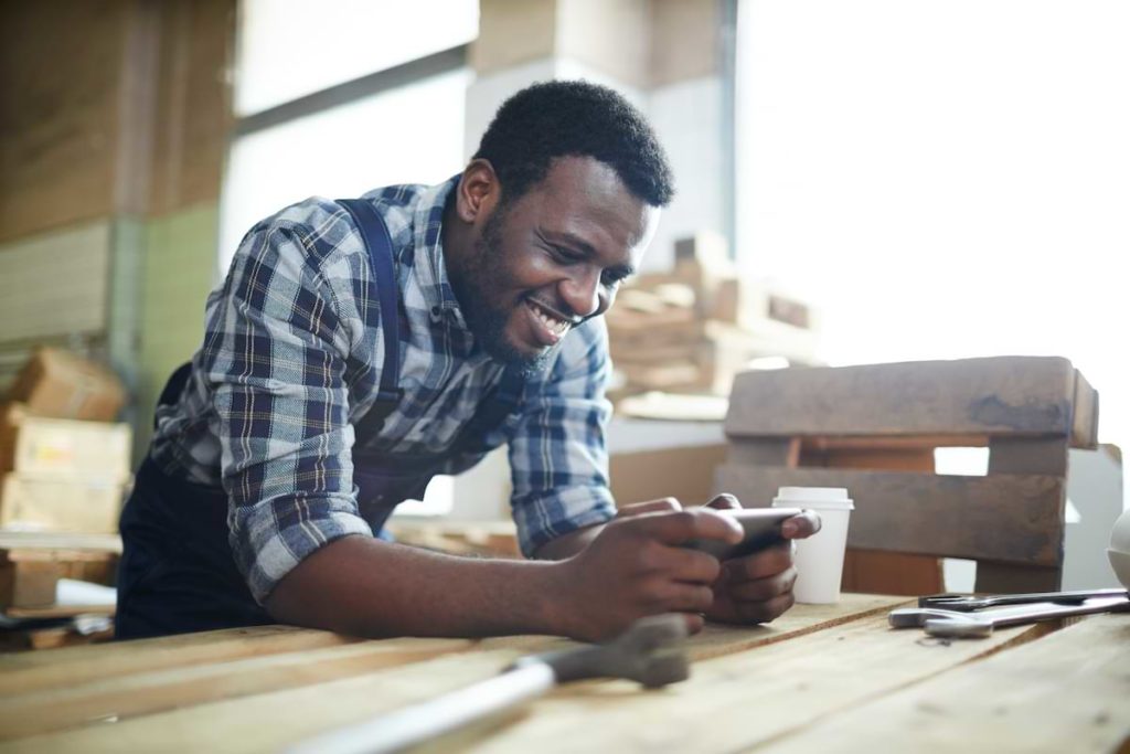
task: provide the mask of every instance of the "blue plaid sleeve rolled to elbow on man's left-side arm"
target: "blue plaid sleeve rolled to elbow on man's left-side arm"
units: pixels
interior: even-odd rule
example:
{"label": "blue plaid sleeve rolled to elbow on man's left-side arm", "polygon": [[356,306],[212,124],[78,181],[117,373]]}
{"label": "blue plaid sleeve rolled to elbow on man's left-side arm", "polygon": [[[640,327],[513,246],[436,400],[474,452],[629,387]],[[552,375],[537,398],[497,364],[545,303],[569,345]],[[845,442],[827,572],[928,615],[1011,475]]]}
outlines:
{"label": "blue plaid sleeve rolled to elbow on man's left-side arm", "polygon": [[235,562],[261,604],[292,569],[371,535],[353,493],[350,344],[316,239],[276,220],[244,239],[214,294],[200,366],[228,495]]}

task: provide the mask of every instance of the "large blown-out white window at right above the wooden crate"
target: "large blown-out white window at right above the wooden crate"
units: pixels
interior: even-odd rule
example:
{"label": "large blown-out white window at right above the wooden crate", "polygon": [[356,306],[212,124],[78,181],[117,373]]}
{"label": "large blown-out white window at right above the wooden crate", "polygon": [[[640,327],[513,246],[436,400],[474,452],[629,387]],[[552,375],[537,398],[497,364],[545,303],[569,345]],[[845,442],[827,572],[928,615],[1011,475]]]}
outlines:
{"label": "large blown-out white window at right above the wooden crate", "polygon": [[1130,447],[1130,3],[740,0],[738,248],[832,364],[1060,355]]}

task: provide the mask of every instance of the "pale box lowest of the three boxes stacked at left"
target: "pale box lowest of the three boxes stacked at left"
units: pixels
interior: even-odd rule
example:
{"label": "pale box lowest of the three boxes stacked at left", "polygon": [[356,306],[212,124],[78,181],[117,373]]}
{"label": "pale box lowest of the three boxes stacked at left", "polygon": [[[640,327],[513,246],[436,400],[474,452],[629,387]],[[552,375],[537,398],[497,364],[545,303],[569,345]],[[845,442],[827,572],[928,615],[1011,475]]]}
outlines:
{"label": "pale box lowest of the three boxes stacked at left", "polygon": [[114,534],[124,494],[118,483],[8,474],[0,483],[0,529]]}

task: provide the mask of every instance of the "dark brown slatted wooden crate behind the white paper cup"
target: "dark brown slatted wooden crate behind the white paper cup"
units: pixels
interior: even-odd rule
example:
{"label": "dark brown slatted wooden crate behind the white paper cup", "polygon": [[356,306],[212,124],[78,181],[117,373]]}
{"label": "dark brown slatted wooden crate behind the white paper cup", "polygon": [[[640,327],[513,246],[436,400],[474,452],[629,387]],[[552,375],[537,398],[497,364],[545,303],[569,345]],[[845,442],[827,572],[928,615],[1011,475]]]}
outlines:
{"label": "dark brown slatted wooden crate behind the white paper cup", "polygon": [[[754,506],[782,486],[847,487],[849,589],[938,591],[937,558],[960,557],[977,591],[1052,590],[1068,449],[1097,447],[1097,417],[1095,390],[1055,357],[748,372],[716,487]],[[988,476],[935,474],[940,447],[988,447]]]}

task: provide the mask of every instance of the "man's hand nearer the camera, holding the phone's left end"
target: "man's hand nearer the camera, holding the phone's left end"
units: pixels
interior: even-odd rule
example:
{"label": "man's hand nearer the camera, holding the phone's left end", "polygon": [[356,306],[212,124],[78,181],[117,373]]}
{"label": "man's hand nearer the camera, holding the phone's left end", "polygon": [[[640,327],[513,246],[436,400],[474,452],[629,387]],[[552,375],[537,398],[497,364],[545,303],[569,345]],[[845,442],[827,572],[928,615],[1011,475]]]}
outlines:
{"label": "man's hand nearer the camera, holding the phone's left end", "polygon": [[580,553],[562,562],[560,619],[568,635],[600,640],[633,621],[684,613],[692,632],[715,601],[718,560],[680,547],[689,539],[736,544],[741,528],[709,509],[683,511],[675,501],[627,506]]}

